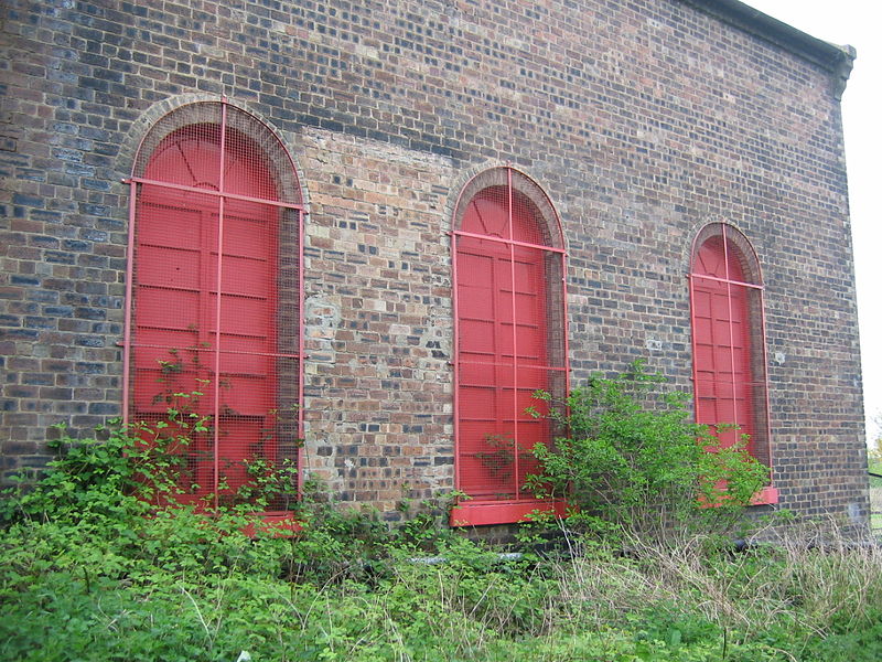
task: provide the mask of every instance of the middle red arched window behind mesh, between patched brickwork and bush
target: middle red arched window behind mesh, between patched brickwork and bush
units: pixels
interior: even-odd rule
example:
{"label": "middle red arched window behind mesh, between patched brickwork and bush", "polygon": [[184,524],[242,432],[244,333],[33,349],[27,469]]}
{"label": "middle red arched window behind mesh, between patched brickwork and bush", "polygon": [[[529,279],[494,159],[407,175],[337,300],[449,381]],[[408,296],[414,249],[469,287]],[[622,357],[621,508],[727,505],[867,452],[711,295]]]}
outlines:
{"label": "middle red arched window behind mesh, between patched brickwork and bush", "polygon": [[536,183],[497,168],[466,184],[453,228],[456,487],[471,499],[451,523],[516,522],[542,506],[524,483],[551,440],[526,409],[537,389],[567,393],[560,224]]}

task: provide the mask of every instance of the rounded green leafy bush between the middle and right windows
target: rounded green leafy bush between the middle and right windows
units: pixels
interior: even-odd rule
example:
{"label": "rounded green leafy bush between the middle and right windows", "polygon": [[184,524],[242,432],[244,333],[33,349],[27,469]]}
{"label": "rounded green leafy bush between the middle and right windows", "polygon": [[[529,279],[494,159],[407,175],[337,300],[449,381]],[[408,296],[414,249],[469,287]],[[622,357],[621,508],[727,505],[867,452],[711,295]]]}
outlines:
{"label": "rounded green leafy bush between the middle and right windows", "polygon": [[707,426],[690,421],[689,396],[643,362],[615,378],[592,377],[564,403],[536,396],[563,434],[536,445],[541,471],[531,487],[566,498],[571,522],[591,531],[655,538],[674,527],[724,532],[768,480],[744,439],[721,447]]}

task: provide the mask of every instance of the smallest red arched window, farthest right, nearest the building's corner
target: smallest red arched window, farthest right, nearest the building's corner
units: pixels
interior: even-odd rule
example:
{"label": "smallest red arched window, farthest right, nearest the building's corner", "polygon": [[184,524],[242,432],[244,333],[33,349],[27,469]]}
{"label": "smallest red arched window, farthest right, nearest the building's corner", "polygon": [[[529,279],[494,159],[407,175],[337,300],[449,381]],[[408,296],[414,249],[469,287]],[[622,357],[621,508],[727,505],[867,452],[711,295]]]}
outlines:
{"label": "smallest red arched window, farthest right, nearest the building's corner", "polygon": [[[747,435],[747,451],[771,466],[762,275],[734,227],[712,223],[698,234],[690,298],[696,421],[738,426],[717,433],[720,445]],[[770,488],[757,501],[773,496]]]}

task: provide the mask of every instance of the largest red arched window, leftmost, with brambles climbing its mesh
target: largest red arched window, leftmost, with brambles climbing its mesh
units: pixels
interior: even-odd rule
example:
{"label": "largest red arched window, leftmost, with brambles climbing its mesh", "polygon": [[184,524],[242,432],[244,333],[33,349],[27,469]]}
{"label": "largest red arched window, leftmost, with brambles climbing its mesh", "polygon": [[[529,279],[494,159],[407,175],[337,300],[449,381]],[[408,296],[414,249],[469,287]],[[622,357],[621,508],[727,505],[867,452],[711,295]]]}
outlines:
{"label": "largest red arched window, leftmost, with brambles climbing its mesh", "polygon": [[[197,103],[152,127],[130,183],[126,417],[181,458],[181,501],[232,501],[267,469],[297,466],[297,171],[254,116]],[[288,485],[271,509],[295,494]]]}

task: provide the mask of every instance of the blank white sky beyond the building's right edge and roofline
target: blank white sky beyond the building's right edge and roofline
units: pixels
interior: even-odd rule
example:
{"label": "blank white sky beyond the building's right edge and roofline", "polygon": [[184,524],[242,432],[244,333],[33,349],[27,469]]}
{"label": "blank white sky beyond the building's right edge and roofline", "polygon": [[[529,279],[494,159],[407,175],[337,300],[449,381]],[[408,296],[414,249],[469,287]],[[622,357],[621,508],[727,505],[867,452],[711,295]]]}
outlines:
{"label": "blank white sky beyond the building's right edge and roofline", "polygon": [[[882,239],[874,189],[880,185],[882,159],[882,39],[879,30],[882,3],[878,0],[743,0],[763,13],[811,36],[851,44],[858,58],[842,95],[846,131],[851,231],[858,278],[863,396],[868,439],[882,434],[874,419],[882,418]],[[882,421],[880,421],[882,423]]]}

